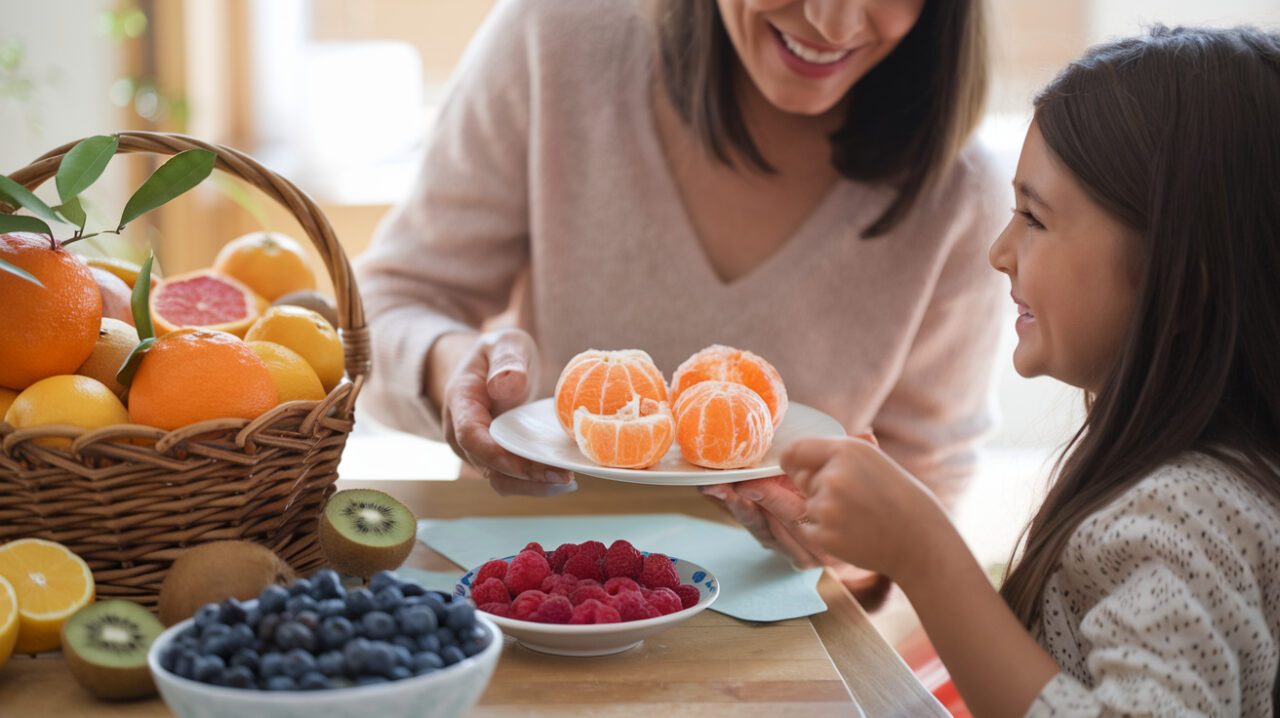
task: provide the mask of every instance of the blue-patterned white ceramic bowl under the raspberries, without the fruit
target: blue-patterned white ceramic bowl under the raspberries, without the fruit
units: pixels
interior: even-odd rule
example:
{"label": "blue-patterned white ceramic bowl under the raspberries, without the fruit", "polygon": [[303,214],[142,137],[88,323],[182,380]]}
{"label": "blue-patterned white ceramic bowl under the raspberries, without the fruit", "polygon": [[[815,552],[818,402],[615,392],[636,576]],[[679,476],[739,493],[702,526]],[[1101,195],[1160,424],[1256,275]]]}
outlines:
{"label": "blue-patterned white ceramic bowl under the raspberries, without the fruit", "polygon": [[[511,562],[515,557],[508,555],[503,561]],[[645,618],[643,621],[625,621],[622,623],[594,623],[594,625],[563,625],[563,623],[536,623],[534,621],[520,621],[504,618],[477,610],[476,616],[483,616],[498,626],[508,636],[520,641],[525,648],[539,653],[553,655],[611,655],[630,650],[654,634],[659,634],[672,626],[692,618],[701,613],[708,605],[716,602],[719,595],[719,581],[712,572],[691,563],[672,557],[676,571],[680,573],[681,584],[690,584],[698,587],[700,598],[698,603],[676,613]],[[476,571],[472,568],[453,587],[453,595],[471,598],[471,581]]]}

